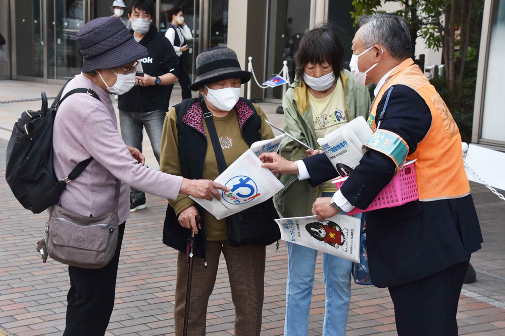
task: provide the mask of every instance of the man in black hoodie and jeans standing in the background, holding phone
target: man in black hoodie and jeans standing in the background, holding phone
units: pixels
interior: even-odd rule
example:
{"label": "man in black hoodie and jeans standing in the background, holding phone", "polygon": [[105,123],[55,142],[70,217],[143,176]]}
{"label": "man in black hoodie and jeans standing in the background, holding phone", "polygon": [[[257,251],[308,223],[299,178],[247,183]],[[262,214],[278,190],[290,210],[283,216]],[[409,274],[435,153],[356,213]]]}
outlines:
{"label": "man in black hoodie and jeans standing in the background, holding phone", "polygon": [[[160,162],[163,122],[168,111],[165,86],[174,84],[179,76],[179,57],[174,47],[152,25],[155,6],[151,0],[133,0],[129,19],[135,40],[147,48],[142,58],[144,75],[136,77],[136,86],[119,96],[121,136],[126,145],[142,151],[142,128],[145,127],[156,160]],[[130,211],[145,208],[145,194],[131,188]]]}

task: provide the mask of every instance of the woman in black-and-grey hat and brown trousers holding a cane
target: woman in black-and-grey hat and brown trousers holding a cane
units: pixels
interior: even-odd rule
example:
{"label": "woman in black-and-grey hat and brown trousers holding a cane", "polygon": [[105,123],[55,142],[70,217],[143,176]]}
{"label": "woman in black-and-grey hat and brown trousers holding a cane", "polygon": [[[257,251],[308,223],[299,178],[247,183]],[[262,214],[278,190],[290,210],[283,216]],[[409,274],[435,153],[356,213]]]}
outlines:
{"label": "woman in black-and-grey hat and brown trousers holding a cane", "polygon": [[[232,49],[218,47],[200,53],[196,57],[196,74],[196,80],[189,88],[198,90],[203,97],[185,99],[168,112],[163,127],[160,170],[186,178],[200,176],[214,180],[252,143],[272,139],[273,133],[261,107],[239,98],[240,86],[250,80],[251,74],[242,71]],[[275,213],[273,204],[270,205]],[[203,218],[201,225],[196,224],[195,216]],[[265,213],[258,222],[272,223],[278,230],[272,217],[271,212]],[[174,308],[176,335],[183,334],[189,229],[195,233],[196,241],[187,334],[205,334],[207,304],[216,282],[221,252],[226,259],[235,305],[235,335],[260,334],[265,245],[273,243],[278,237],[266,231],[254,232],[261,230],[262,223],[258,223],[257,228],[248,234],[233,236],[229,234],[228,219],[217,220],[182,194],[176,200],[170,200],[163,242],[180,251]],[[262,235],[262,243],[258,240],[255,244],[248,242],[252,237]],[[271,240],[266,241],[268,239]],[[242,243],[237,243],[238,240]]]}

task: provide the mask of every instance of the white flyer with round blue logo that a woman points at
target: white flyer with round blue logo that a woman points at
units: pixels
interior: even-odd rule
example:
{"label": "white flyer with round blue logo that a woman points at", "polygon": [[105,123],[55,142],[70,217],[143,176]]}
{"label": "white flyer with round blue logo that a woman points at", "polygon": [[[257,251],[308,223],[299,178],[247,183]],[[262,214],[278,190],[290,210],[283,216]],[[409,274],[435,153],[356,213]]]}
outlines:
{"label": "white flyer with round blue logo that a woman points at", "polygon": [[260,159],[249,149],[214,180],[231,189],[229,192],[219,190],[221,200],[189,197],[217,219],[263,203],[284,185],[261,164]]}

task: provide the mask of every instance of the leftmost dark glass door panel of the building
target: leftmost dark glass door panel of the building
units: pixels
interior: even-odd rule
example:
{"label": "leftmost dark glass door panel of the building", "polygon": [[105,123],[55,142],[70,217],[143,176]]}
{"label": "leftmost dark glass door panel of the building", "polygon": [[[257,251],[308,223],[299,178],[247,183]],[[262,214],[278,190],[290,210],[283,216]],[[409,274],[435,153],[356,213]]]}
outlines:
{"label": "leftmost dark glass door panel of the building", "polygon": [[15,3],[16,76],[43,81],[45,72],[44,1],[17,0]]}

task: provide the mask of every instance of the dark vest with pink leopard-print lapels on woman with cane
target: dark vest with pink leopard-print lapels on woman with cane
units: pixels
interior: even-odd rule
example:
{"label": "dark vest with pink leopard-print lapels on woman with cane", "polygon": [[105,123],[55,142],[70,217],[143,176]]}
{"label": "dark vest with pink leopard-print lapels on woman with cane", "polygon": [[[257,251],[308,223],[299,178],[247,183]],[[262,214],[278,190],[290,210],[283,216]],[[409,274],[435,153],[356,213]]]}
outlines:
{"label": "dark vest with pink leopard-print lapels on woman with cane", "polygon": [[[180,104],[175,105],[175,110],[177,112],[178,153],[182,176],[188,179],[201,179],[207,155],[207,136],[202,124],[204,110],[207,111],[205,100],[203,98],[184,99]],[[250,147],[256,141],[261,140],[261,118],[252,103],[244,98],[239,99],[235,110],[242,138]],[[204,209],[198,204],[195,206],[198,213],[203,214]],[[185,229],[179,224],[175,211],[169,205],[163,227],[163,243],[181,252],[186,252],[190,233],[189,229]],[[194,254],[206,258],[207,239],[204,222],[195,239]]]}

